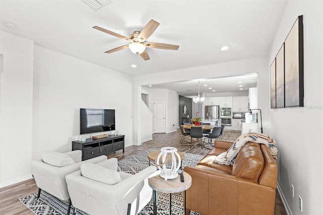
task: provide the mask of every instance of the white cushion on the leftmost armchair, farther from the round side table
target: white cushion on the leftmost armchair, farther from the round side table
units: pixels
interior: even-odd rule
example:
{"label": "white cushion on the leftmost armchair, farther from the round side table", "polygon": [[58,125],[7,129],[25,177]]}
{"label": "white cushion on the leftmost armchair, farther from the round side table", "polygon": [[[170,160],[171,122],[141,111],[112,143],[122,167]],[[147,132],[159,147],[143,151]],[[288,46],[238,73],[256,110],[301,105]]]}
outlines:
{"label": "white cushion on the leftmost armchair, farther from the round side table", "polygon": [[45,152],[42,155],[42,161],[56,167],[65,167],[75,164],[74,160],[69,155],[57,151]]}

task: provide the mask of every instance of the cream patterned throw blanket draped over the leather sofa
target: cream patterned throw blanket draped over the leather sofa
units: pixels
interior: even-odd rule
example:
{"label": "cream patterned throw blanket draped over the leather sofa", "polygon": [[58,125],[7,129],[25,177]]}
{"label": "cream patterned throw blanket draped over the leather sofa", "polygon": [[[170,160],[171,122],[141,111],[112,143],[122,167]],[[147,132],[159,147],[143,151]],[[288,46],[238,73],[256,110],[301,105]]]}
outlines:
{"label": "cream patterned throw blanket draped over the leather sofa", "polygon": [[244,146],[247,142],[254,142],[265,144],[270,150],[273,157],[276,159],[278,149],[275,146],[275,140],[270,136],[260,133],[246,133],[241,135],[228,149],[214,159],[214,162],[224,165],[233,165],[236,155],[238,154],[240,148]]}

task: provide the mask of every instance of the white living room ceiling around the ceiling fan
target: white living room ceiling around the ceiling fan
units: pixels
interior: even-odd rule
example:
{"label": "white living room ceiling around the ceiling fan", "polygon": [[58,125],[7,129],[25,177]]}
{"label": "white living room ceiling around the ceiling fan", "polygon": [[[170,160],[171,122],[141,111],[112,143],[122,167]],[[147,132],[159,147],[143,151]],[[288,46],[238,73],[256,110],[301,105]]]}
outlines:
{"label": "white living room ceiling around the ceiling fan", "polygon": [[[93,10],[82,0],[0,0],[0,30],[138,76],[267,56],[286,4],[287,0],[113,0]],[[127,41],[92,28],[129,37],[150,19],[160,25],[147,41],[179,45],[178,50],[147,48],[148,61],[129,49],[107,54],[104,51]],[[16,27],[6,27],[6,22]],[[223,45],[229,50],[221,51]]]}

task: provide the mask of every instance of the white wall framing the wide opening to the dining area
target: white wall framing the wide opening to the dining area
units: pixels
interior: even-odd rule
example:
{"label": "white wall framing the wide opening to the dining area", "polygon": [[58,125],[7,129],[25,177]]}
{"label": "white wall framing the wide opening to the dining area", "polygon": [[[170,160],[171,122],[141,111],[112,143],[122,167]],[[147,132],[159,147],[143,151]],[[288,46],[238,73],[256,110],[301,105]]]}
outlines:
{"label": "white wall framing the wide opening to the dining area", "polygon": [[[228,76],[239,76],[250,73],[258,74],[258,96],[262,97],[260,100],[263,102],[259,104],[259,109],[264,113],[262,114],[263,131],[268,132],[268,68],[267,58],[247,59],[236,62],[229,62],[223,64],[207,65],[196,68],[188,68],[183,70],[169,71],[157,74],[148,74],[134,77],[134,89],[141,88],[141,85],[148,84],[162,84],[168,82],[188,81],[200,78],[220,78]],[[185,76],[183,76],[185,74]],[[140,93],[140,96],[138,95]],[[141,97],[141,91],[134,93],[134,99]],[[136,102],[136,101],[134,101]],[[193,106],[194,107],[194,106]],[[138,113],[138,106],[134,106],[134,113]],[[140,109],[139,109],[140,110]],[[176,108],[177,110],[177,108]],[[139,115],[140,116],[140,115]],[[193,117],[193,116],[192,116]],[[175,121],[175,120],[174,120]],[[140,127],[140,119],[134,118],[134,127]],[[175,126],[178,125],[175,124]],[[137,141],[140,141],[137,140]]]}

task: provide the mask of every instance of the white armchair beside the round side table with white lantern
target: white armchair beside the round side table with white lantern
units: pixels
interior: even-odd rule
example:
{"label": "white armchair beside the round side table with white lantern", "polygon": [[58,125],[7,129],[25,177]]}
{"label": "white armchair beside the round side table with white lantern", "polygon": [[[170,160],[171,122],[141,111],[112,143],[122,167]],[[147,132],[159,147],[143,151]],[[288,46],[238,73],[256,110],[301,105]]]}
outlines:
{"label": "white armchair beside the round side table with white lantern", "polygon": [[[151,200],[152,189],[148,185],[148,177],[156,172],[156,167],[150,166],[131,175],[117,172],[117,158],[104,160],[95,166],[98,167],[89,166],[87,174],[82,166],[80,171],[66,176],[74,207],[95,215],[137,214]],[[96,174],[100,170],[100,172],[105,172],[102,171],[102,167],[106,170],[104,177]],[[90,171],[93,171],[93,177],[89,176]],[[99,182],[100,179],[105,181]],[[106,182],[106,179],[111,183]]]}

